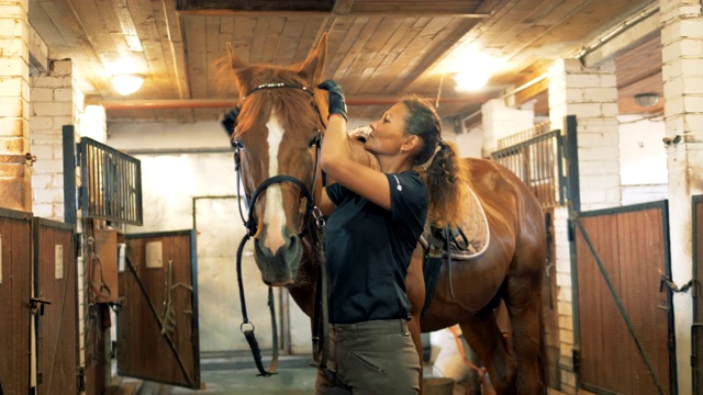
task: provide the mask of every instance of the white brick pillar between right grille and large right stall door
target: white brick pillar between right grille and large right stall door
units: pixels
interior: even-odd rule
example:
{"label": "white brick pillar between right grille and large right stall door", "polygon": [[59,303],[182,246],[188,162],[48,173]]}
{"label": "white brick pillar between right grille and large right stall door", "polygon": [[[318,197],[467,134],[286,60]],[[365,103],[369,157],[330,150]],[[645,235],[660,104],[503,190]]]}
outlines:
{"label": "white brick pillar between right grille and large right stall door", "polygon": [[[559,59],[549,69],[551,128],[566,132],[563,117],[576,115],[581,208],[621,204],[620,137],[615,65],[584,68],[577,59]],[[572,351],[573,305],[567,208],[555,210],[561,390],[576,393]]]}

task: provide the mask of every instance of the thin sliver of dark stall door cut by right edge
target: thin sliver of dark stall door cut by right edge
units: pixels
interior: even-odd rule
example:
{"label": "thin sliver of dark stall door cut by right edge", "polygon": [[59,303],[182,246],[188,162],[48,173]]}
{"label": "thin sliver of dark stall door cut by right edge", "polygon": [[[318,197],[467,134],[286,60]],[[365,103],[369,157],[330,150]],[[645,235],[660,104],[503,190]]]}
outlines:
{"label": "thin sliver of dark stall door cut by right edge", "polygon": [[703,195],[693,196],[693,279],[699,286],[693,298],[692,358],[693,395],[703,394],[703,302],[701,276],[703,275]]}

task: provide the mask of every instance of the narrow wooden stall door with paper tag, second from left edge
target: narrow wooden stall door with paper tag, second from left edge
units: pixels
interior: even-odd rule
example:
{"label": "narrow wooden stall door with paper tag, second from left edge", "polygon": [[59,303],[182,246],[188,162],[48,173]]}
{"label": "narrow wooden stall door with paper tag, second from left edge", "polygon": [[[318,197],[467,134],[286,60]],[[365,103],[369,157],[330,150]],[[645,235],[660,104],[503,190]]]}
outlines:
{"label": "narrow wooden stall door with paper tag, second from left edge", "polygon": [[49,301],[36,317],[38,395],[78,393],[74,227],[34,218],[34,295]]}

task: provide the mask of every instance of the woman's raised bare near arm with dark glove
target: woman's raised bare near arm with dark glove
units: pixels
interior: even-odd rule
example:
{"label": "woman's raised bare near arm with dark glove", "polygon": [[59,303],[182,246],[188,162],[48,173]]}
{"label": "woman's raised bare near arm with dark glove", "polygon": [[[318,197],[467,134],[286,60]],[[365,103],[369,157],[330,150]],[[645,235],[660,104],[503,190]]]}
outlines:
{"label": "woman's raised bare near arm with dark glove", "polygon": [[322,143],[322,169],[335,181],[379,206],[391,210],[391,192],[388,178],[355,161],[347,138],[346,104],[344,92],[331,80],[320,84],[330,91],[330,119]]}

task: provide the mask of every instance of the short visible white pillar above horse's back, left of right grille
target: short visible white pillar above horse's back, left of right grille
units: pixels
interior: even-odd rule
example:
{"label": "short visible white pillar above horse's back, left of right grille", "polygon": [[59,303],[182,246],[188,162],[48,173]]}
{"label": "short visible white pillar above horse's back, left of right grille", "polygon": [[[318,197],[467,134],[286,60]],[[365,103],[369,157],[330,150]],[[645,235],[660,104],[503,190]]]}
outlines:
{"label": "short visible white pillar above horse's back, left of right grille", "polygon": [[505,105],[503,99],[492,99],[481,105],[483,124],[483,157],[498,149],[498,140],[535,126],[534,110],[520,110]]}

